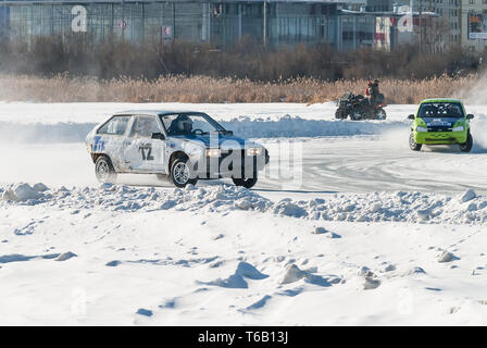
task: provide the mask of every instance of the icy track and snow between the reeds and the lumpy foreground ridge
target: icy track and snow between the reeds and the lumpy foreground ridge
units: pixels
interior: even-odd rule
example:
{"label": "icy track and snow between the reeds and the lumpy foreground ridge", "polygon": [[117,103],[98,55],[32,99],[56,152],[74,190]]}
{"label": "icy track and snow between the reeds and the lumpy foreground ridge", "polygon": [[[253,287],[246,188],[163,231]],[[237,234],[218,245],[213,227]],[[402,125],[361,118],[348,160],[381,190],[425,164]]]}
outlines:
{"label": "icy track and snow between the reeds and the lumpy foreground ridge", "polygon": [[[267,173],[255,187],[270,197],[283,190],[309,197],[330,191],[449,194],[487,187],[487,107],[466,105],[476,116],[472,121],[475,145],[471,153],[461,153],[457,146],[409,149],[405,117],[415,105],[387,107],[385,122],[351,122],[334,119],[334,103],[0,103],[0,163],[4,164],[0,184],[96,185],[83,141],[105,114],[127,109],[204,111],[236,135],[257,138],[269,147],[271,164],[279,165],[277,178]],[[289,164],[283,158],[279,144],[287,142],[299,144],[302,161]],[[120,183],[170,186],[151,176],[122,175]],[[199,183],[209,184],[220,182]]]}

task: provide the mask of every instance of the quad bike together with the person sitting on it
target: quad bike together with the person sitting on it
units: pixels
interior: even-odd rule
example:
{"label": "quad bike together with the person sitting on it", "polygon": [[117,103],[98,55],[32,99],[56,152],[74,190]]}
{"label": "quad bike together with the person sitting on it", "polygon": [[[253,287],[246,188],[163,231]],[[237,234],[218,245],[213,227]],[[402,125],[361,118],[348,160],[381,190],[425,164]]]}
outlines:
{"label": "quad bike together with the person sitting on it", "polygon": [[385,120],[387,117],[384,107],[384,95],[378,89],[378,79],[369,80],[364,98],[361,95],[346,94],[338,101],[336,119],[345,120]]}

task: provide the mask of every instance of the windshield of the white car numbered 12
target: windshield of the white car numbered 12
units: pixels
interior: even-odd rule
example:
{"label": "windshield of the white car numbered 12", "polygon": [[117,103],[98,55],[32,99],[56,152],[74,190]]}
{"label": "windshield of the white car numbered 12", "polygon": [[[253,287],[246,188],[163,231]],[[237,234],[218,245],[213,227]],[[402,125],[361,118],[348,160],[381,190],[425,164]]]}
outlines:
{"label": "windshield of the white car numbered 12", "polygon": [[216,121],[204,113],[163,115],[161,120],[170,136],[204,135],[226,132]]}

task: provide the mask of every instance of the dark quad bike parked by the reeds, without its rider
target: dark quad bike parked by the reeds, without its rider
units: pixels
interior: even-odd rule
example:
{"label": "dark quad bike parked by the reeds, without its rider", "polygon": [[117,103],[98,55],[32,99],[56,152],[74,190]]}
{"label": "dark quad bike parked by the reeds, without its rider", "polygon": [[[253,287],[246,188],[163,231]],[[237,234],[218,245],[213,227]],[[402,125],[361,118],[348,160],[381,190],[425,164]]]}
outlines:
{"label": "dark quad bike parked by the reeds, without its rider", "polygon": [[387,105],[384,101],[384,95],[378,95],[375,104],[371,104],[369,99],[361,95],[345,94],[337,102],[338,109],[335,112],[335,119],[352,121],[361,120],[386,120],[387,114],[384,108]]}

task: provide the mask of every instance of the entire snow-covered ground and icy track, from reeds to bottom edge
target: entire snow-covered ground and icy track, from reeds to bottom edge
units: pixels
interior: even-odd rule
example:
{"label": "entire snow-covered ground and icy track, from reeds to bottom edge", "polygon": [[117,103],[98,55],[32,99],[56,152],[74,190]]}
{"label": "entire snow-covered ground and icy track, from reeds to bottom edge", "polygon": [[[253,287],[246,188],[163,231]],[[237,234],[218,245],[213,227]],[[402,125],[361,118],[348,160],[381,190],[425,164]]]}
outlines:
{"label": "entire snow-covered ground and icy track, from reeds to bottom edge", "polygon": [[[205,111],[279,172],[100,186],[82,141],[126,109]],[[469,154],[410,151],[415,107],[386,110],[0,103],[0,324],[485,325],[487,108],[467,105]]]}

